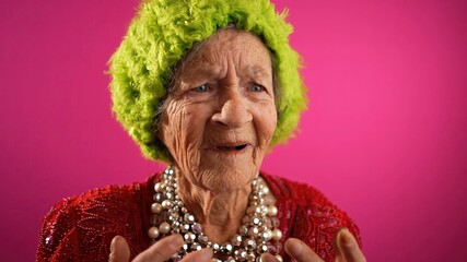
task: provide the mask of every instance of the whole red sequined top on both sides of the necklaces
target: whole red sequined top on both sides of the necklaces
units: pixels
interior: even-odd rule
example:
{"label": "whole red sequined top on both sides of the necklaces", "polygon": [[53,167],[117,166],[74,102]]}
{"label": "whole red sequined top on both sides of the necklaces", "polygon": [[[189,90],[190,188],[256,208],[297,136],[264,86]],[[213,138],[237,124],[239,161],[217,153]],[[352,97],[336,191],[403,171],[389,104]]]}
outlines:
{"label": "whole red sequined top on both sides of the necklaces", "polygon": [[[334,261],[332,237],[347,227],[357,237],[355,224],[319,191],[280,177],[261,174],[277,199],[279,228],[283,237],[300,238],[325,261]],[[150,246],[153,184],[160,175],[130,186],[109,186],[56,204],[44,218],[36,261],[108,261],[116,235],[125,237],[131,258]]]}

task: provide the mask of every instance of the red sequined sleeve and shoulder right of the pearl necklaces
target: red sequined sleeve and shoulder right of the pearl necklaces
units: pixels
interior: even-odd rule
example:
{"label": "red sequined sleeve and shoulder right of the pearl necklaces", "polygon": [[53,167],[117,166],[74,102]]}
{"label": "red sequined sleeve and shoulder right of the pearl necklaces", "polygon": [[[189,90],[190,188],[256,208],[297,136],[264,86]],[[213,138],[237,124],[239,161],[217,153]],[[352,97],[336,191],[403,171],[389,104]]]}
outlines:
{"label": "red sequined sleeve and shoulder right of the pearl necklaces", "polygon": [[[281,246],[288,238],[299,238],[308,245],[324,261],[334,261],[332,239],[336,233],[347,227],[360,247],[360,233],[353,221],[322,192],[305,183],[264,175],[277,198],[278,218],[283,233]],[[284,261],[290,261],[279,248]]]}

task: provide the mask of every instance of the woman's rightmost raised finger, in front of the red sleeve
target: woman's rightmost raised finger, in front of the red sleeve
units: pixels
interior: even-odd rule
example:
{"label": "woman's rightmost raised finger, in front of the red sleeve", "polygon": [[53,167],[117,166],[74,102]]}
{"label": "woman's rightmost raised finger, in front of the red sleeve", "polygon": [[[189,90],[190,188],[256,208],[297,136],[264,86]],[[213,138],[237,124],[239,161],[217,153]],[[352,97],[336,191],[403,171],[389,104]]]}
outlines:
{"label": "woman's rightmost raised finger, in front of the red sleeve", "polygon": [[336,246],[339,249],[336,251],[336,260],[346,262],[365,262],[365,257],[363,255],[362,250],[360,250],[357,239],[347,229],[341,229],[337,233]]}

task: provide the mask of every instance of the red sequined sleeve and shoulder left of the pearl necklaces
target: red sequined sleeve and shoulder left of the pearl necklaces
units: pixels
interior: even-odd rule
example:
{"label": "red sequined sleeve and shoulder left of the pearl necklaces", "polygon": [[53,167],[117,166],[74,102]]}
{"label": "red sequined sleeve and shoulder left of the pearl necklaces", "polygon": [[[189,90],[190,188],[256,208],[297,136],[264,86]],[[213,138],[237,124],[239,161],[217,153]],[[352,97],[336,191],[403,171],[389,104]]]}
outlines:
{"label": "red sequined sleeve and shoulder left of the pearl necklaces", "polygon": [[44,218],[36,261],[108,261],[117,235],[135,258],[150,246],[152,194],[145,184],[95,189],[56,204]]}

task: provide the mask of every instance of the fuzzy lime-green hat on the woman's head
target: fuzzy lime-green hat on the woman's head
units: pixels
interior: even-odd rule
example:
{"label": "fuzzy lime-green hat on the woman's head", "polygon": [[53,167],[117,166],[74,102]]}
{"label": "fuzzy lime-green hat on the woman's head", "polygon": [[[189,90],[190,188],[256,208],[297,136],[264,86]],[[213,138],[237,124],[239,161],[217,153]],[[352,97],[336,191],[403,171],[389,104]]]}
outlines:
{"label": "fuzzy lime-green hat on the woman's head", "polygon": [[172,69],[191,47],[233,23],[259,36],[275,56],[280,99],[271,146],[285,142],[306,108],[300,57],[289,45],[293,28],[268,0],[145,0],[109,61],[113,111],[150,159],[168,162],[154,132],[154,115]]}

